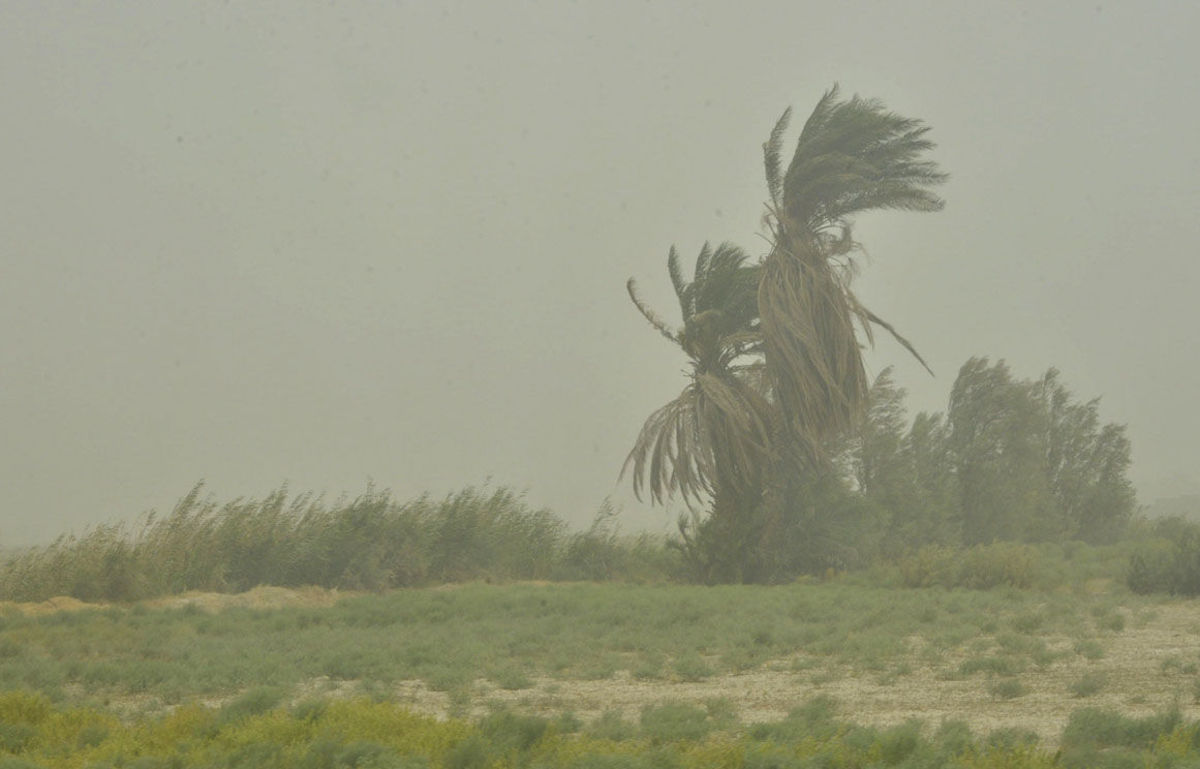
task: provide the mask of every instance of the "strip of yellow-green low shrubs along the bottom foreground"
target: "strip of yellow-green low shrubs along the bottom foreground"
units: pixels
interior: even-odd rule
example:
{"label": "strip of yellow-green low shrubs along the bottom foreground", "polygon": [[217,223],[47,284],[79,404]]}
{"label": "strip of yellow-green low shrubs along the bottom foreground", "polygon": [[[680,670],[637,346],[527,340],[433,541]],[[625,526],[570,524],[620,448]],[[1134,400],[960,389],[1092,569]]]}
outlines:
{"label": "strip of yellow-green low shrubs along the bottom foreground", "polygon": [[[828,699],[775,723],[718,732],[712,713],[680,703],[647,708],[641,728],[608,714],[582,732],[558,721],[498,710],[473,722],[439,721],[403,707],[334,701],[323,709],[271,709],[238,720],[186,705],[168,716],[125,722],[67,710],[26,695],[0,695],[0,710],[36,723],[0,747],[0,768],[264,767],[299,769],[684,769],[743,767],[1190,767],[1200,758],[1198,725],[1176,711],[1147,719],[1084,709],[1070,716],[1052,753],[1036,734],[1000,729],[976,737],[962,723],[932,732],[917,721],[887,728],[841,722]],[[103,723],[104,728],[96,728]],[[13,750],[13,747],[16,750]]]}

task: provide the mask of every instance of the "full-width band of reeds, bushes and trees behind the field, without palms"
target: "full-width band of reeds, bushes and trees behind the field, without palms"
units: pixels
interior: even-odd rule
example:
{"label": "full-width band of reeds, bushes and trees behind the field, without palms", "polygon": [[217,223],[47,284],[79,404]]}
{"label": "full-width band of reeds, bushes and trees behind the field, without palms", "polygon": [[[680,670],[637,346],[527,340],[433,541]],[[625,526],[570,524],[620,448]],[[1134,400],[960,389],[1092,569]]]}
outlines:
{"label": "full-width band of reeds, bushes and trees behind the field, without palms", "polygon": [[572,531],[505,487],[410,501],[368,488],[335,503],[284,487],[222,504],[197,485],[166,516],[0,559],[0,600],[126,601],[259,584],[781,583],[881,569],[908,587],[1036,587],[1078,569],[1063,564],[1078,564],[1080,547],[1120,552],[1123,566],[1106,576],[1135,591],[1200,595],[1200,524],[1134,518],[1124,427],[1103,423],[1098,402],[1076,401],[1055,370],[1020,380],[1003,361],[976,358],[944,414],[910,421],[904,398],[886,370],[862,420],[828,447],[838,457],[830,470],[788,477],[775,505],[737,517],[696,510],[677,537],[623,536],[607,505]]}

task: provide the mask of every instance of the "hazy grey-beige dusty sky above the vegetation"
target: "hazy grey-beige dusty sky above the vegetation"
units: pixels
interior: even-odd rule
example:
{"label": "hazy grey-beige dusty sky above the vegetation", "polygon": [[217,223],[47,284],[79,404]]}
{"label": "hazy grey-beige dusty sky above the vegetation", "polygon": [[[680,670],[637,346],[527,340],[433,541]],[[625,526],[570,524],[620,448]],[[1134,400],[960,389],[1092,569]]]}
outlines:
{"label": "hazy grey-beige dusty sky above the vegetation", "polygon": [[[1200,491],[1200,5],[0,5],[0,545],[293,489],[617,474],[684,359],[676,244],[761,254],[762,142],[834,82],[924,119],[934,215],[868,215],[916,409],[971,355]],[[788,143],[794,142],[794,132]]]}

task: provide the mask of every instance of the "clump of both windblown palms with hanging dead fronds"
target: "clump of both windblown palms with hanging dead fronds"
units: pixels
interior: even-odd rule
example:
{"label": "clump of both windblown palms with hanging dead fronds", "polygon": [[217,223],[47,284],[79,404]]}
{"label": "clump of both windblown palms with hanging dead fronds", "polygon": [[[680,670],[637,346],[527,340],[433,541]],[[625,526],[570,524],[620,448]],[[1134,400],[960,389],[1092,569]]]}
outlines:
{"label": "clump of both windblown palms with hanging dead fronds", "polygon": [[[724,280],[738,288],[718,295],[737,310],[694,304],[702,293],[697,284],[722,284],[707,275],[710,264],[701,269],[704,252],[691,283],[683,281],[673,248],[668,259],[682,330],[666,326],[629,283],[634,304],[688,353],[692,371],[680,396],[647,420],[625,468],[634,467],[638,495],[649,486],[652,501],[676,492],[690,503],[710,497],[709,528],[720,530],[727,561],[749,561],[751,548],[762,555],[803,540],[797,527],[812,528],[820,515],[812,489],[827,487],[823,476],[833,470],[827,447],[853,428],[866,399],[857,329],[866,342],[874,341],[872,326],[886,329],[924,364],[851,290],[852,257],[860,248],[852,220],[872,209],[942,208],[930,188],[946,175],[922,160],[934,146],[925,138],[929,128],[874,100],[840,100],[834,86],[805,122],[785,172],[781,148],[790,116],[788,109],[763,145],[769,253],[761,265],[748,266],[742,252],[722,246],[737,254],[736,269]],[[708,259],[715,263],[715,254]],[[688,529],[680,530],[691,546]],[[815,552],[815,542],[802,549]],[[720,578],[763,578],[778,571],[770,563],[788,563],[778,553],[760,560],[768,565],[728,566]]]}

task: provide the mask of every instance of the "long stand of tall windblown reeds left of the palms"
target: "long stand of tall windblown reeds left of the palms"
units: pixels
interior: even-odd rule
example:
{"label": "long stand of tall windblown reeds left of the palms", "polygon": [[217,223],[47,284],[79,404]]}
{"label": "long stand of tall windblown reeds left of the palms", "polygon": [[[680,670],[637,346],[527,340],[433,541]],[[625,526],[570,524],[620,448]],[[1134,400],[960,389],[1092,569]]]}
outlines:
{"label": "long stand of tall windblown reeds left of the palms", "polygon": [[570,533],[510,488],[396,501],[368,488],[326,504],[287,487],[220,504],[198,483],[169,515],[65,535],[0,565],[0,600],[128,601],[259,584],[382,590],[472,579],[664,578],[670,555],[620,537],[612,510]]}

